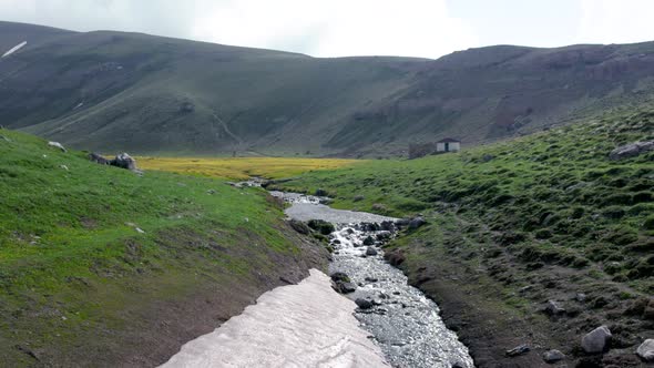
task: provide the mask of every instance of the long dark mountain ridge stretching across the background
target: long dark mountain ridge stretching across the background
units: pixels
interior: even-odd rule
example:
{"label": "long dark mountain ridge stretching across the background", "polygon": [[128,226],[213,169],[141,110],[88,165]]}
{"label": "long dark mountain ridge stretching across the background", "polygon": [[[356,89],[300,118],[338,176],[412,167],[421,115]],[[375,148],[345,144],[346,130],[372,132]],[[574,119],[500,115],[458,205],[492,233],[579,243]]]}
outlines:
{"label": "long dark mountain ridge stretching across the background", "polygon": [[402,154],[562,124],[647,94],[654,43],[318,59],[0,22],[0,124],[141,154]]}

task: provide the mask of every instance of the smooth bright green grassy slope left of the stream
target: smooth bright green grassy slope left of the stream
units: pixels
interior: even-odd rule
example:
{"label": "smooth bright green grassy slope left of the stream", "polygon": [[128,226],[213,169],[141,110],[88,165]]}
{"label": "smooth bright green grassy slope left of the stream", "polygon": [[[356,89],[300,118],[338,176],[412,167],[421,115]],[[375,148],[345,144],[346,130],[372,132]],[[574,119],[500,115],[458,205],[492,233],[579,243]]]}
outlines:
{"label": "smooth bright green grassy slope left of the stream", "polygon": [[[211,329],[278,274],[306,270],[282,207],[260,191],[140,177],[37,137],[0,135],[0,366],[108,366],[133,354],[142,360],[131,364],[156,364],[198,334],[193,320]],[[208,304],[228,295],[234,303]],[[176,316],[188,311],[182,300],[204,296],[206,310]]]}

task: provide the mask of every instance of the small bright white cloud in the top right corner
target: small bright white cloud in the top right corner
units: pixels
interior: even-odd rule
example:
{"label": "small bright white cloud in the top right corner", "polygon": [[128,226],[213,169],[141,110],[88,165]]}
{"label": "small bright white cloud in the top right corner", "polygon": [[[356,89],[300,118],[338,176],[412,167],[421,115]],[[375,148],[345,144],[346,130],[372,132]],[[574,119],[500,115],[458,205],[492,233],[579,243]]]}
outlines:
{"label": "small bright white cloud in the top right corner", "polygon": [[654,1],[581,0],[578,43],[631,43],[654,40]]}

